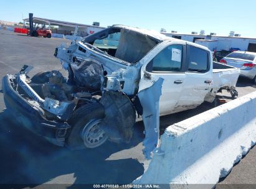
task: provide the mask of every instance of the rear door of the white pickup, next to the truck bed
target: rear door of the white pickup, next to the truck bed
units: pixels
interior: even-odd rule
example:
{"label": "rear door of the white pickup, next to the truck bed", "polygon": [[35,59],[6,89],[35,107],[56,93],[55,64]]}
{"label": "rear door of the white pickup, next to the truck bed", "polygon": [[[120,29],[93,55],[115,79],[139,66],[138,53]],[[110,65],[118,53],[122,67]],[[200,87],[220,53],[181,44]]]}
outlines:
{"label": "rear door of the white pickup, next to the truck bed", "polygon": [[187,45],[186,78],[176,109],[195,108],[204,101],[211,90],[212,60],[208,50]]}

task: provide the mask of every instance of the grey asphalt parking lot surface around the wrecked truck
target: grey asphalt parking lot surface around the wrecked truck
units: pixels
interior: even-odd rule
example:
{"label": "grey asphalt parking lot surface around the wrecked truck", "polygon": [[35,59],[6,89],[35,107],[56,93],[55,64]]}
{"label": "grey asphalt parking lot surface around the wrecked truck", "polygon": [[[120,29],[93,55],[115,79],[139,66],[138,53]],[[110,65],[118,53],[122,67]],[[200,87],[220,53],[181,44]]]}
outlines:
{"label": "grey asphalt parking lot surface around the wrecked truck", "polygon": [[[17,73],[24,64],[34,67],[31,76],[49,70],[61,70],[65,74],[53,54],[57,45],[69,45],[70,42],[65,39],[27,37],[0,30],[0,78],[6,73]],[[237,91],[239,96],[243,96],[256,91],[256,86],[250,80],[239,78]],[[219,98],[232,100],[229,93],[219,94]],[[203,103],[196,109],[161,117],[161,133],[171,124],[211,108],[214,108],[214,104]],[[107,142],[97,149],[71,151],[50,144],[24,129],[15,117],[7,113],[3,94],[0,93],[0,183],[25,186],[62,183],[67,184],[67,187],[81,183],[131,183],[143,174],[148,164],[141,151],[143,130],[143,122],[136,123],[130,144]],[[256,148],[251,149],[220,183],[256,183],[255,154]],[[221,187],[217,185],[217,188]]]}

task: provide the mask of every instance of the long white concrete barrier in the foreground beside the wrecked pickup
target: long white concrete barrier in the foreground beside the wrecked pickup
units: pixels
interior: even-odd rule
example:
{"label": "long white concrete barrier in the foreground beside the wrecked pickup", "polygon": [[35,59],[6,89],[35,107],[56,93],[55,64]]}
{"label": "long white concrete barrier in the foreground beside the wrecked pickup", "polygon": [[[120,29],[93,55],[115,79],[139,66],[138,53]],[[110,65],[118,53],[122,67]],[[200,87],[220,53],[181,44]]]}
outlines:
{"label": "long white concrete barrier in the foreground beside the wrecked pickup", "polygon": [[255,144],[255,107],[256,92],[169,126],[148,169],[133,183],[214,187]]}

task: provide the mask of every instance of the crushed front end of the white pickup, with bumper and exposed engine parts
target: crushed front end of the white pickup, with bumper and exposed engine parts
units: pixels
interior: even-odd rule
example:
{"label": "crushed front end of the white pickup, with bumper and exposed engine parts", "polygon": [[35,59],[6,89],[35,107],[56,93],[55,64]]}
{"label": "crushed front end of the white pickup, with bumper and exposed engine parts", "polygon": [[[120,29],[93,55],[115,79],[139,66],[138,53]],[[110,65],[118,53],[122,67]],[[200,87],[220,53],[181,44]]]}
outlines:
{"label": "crushed front end of the white pickup, with bumper and exposed engine parts", "polygon": [[67,82],[59,71],[29,78],[31,67],[2,78],[7,111],[27,129],[63,146],[71,129],[68,120],[81,104],[97,101],[92,95]]}

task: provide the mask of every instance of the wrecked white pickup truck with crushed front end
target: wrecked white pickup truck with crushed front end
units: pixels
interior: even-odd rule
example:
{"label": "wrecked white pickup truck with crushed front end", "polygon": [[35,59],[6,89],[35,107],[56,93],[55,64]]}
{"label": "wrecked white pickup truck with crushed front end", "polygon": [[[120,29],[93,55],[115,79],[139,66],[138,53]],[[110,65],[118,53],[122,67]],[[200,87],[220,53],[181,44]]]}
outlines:
{"label": "wrecked white pickup truck with crushed front end", "polygon": [[[237,96],[240,70],[212,62],[206,47],[138,28],[113,25],[60,45],[55,57],[69,72],[31,67],[2,79],[7,109],[32,131],[70,149],[129,142],[136,119],[145,124],[144,154],[158,145],[159,116]],[[138,120],[137,119],[137,120]]]}

